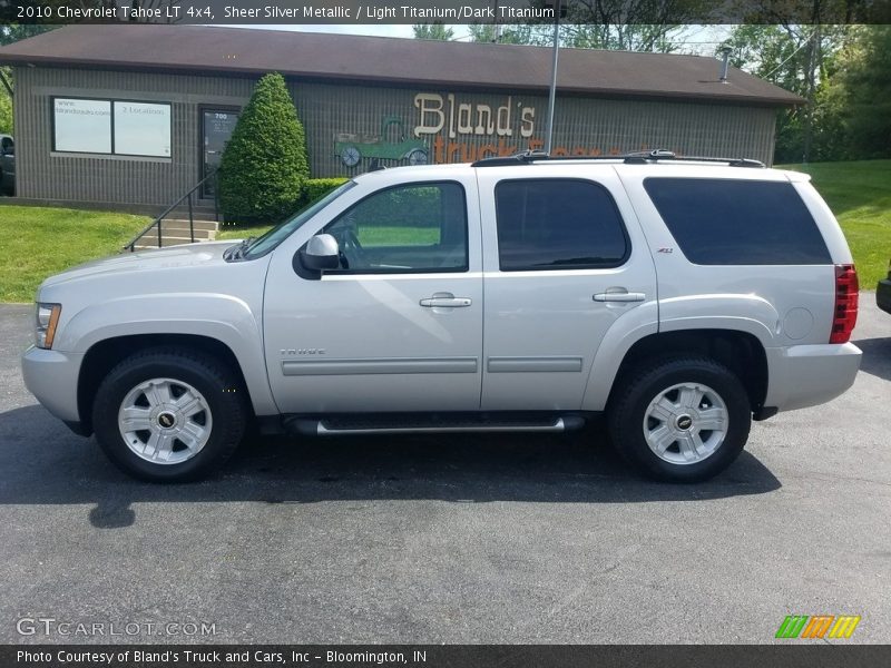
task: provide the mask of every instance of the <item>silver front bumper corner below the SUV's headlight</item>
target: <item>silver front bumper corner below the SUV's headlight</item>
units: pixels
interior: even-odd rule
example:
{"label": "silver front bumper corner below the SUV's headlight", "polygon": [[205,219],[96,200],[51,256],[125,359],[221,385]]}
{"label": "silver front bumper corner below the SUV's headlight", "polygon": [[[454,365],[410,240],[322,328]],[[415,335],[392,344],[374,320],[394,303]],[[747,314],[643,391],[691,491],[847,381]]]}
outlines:
{"label": "silver front bumper corner below the SUV's headlight", "polygon": [[66,423],[80,422],[77,379],[82,361],[81,353],[45,351],[33,345],[21,358],[25,386],[43,407]]}

